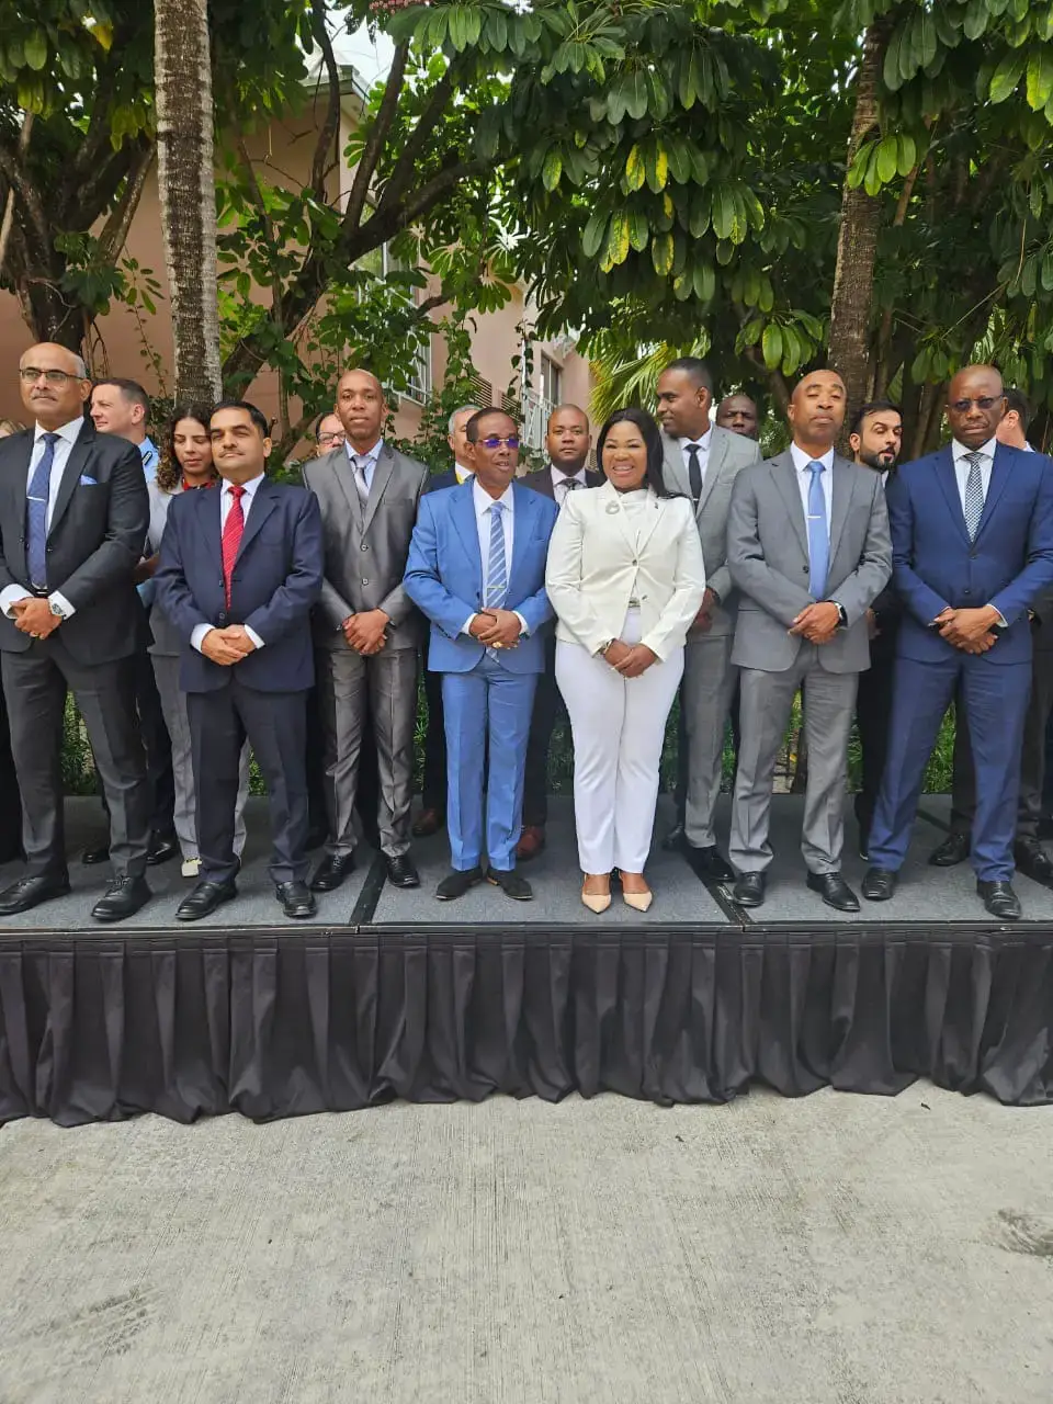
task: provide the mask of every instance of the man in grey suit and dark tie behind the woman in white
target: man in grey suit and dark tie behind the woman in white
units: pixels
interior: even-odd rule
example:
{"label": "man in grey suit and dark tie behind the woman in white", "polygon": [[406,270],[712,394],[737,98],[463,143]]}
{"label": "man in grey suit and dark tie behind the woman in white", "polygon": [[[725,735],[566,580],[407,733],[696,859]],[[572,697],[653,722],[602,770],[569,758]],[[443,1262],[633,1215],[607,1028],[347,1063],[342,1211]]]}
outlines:
{"label": "man in grey suit and dark tie behind the woman in white", "polygon": [[[757,444],[712,424],[713,379],[705,361],[684,357],[658,376],[665,484],[695,504],[706,594],[684,650],[681,737],[687,744],[684,852],[703,882],[731,882],[716,847],[724,729],[739,681],[731,663],[736,595],[724,560],[727,508],[736,475],[760,462]],[[684,744],[684,741],[681,744]]]}

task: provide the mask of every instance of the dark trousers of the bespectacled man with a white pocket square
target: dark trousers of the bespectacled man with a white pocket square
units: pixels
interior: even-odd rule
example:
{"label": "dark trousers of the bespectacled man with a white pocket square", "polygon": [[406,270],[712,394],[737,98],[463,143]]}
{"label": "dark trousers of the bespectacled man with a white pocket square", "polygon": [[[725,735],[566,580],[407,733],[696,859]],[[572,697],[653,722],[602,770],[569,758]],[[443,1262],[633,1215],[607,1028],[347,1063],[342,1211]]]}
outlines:
{"label": "dark trousers of the bespectacled man with a white pocket square", "polygon": [[77,663],[58,637],[0,661],[11,751],[22,795],[27,876],[66,870],[62,720],[72,691],[84,717],[110,813],[110,859],[118,876],[146,872],[150,786],[135,708],[132,658]]}

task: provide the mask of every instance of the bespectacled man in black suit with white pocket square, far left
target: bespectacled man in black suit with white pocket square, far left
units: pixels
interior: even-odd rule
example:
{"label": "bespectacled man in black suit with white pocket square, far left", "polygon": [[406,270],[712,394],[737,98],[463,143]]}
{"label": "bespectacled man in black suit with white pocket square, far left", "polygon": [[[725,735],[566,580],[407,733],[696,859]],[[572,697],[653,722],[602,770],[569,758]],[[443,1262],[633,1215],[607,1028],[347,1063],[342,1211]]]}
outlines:
{"label": "bespectacled man in black suit with white pocket square, far left", "polygon": [[34,428],[0,442],[0,668],[22,792],[25,876],[0,915],[69,892],[59,755],[67,689],[87,726],[110,809],[114,879],[91,915],[149,901],[150,790],[135,723],[133,571],[150,507],[139,451],[84,418],[84,362],[31,347],[18,365]]}

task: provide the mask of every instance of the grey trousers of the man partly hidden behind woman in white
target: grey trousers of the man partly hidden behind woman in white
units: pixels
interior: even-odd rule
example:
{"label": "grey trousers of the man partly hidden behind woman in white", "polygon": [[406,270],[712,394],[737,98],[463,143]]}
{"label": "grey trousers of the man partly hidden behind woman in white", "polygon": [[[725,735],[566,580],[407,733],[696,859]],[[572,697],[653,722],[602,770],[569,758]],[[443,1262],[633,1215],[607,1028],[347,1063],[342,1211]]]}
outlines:
{"label": "grey trousers of the man partly hidden behind woman in white", "polygon": [[684,650],[684,726],[688,739],[688,792],[684,833],[692,848],[712,848],[713,810],[720,795],[724,731],[739,668],[729,635],[688,636]]}

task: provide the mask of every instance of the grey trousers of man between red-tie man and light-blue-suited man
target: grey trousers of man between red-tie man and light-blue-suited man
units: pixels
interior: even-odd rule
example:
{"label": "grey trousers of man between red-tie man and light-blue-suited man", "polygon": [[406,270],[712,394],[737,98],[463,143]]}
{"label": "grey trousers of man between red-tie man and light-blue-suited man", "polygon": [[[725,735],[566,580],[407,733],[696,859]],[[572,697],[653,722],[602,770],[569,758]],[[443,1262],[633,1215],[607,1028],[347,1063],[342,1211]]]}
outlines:
{"label": "grey trousers of man between red-tie man and light-blue-suited man", "polygon": [[365,719],[372,716],[380,778],[376,816],[380,851],[397,858],[410,848],[417,650],[382,649],[364,658],[354,649],[319,649],[316,661],[326,733],[326,851],[340,858],[354,851],[358,761]]}

